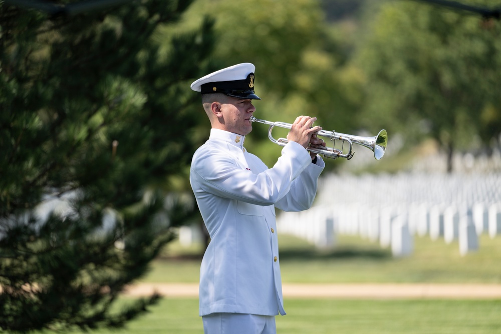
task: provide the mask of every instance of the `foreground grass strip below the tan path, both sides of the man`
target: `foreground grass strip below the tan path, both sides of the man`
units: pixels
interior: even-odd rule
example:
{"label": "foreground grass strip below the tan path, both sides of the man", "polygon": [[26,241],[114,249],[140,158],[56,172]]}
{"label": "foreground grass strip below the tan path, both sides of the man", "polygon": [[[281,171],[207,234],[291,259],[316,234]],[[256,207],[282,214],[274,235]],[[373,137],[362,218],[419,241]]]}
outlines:
{"label": "foreground grass strip below the tan path, both sides of the man", "polygon": [[[288,299],[278,334],[501,333],[501,300]],[[203,334],[196,298],[164,298],[151,312],[99,334]],[[47,332],[48,333],[48,332]]]}

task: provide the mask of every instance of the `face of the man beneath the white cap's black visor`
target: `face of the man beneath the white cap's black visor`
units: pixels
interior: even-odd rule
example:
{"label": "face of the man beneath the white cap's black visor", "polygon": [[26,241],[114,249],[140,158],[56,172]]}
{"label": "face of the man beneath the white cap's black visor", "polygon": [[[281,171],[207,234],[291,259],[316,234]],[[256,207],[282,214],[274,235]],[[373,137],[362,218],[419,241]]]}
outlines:
{"label": "face of the man beneath the white cap's black visor", "polygon": [[242,136],[247,135],[252,131],[249,118],[255,111],[256,107],[252,104],[252,100],[228,96],[227,100],[221,103],[225,130]]}

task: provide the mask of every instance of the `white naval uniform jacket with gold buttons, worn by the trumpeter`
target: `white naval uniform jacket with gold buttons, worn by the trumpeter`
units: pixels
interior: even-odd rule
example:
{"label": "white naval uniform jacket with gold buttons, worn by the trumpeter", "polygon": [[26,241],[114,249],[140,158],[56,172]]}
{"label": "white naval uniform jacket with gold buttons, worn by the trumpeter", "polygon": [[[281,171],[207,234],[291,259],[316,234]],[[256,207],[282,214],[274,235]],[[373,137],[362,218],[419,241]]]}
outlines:
{"label": "white naval uniform jacket with gold buttons, worn by the trumpeter", "polygon": [[191,163],[191,187],[211,238],[200,267],[200,315],[286,314],[275,207],[310,208],[325,166],[290,142],[269,169],[243,141],[211,129]]}

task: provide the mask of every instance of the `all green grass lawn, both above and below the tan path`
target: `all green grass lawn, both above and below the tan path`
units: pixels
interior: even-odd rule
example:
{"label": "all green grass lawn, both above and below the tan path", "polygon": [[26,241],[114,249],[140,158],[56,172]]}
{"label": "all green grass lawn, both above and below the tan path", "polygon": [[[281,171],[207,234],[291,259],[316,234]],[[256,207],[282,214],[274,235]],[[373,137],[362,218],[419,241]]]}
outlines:
{"label": "all green grass lawn, both above and below the tan path", "polygon": [[[409,257],[358,237],[340,236],[337,246],[318,250],[281,235],[280,261],[290,283],[501,283],[501,237],[482,236],[477,252],[460,256],[457,242],[414,239]],[[173,242],[152,264],[144,282],[198,282],[200,245]],[[122,298],[120,302],[126,302]],[[501,300],[303,299],[286,298],[277,316],[279,334],[493,334],[501,333]],[[52,332],[47,331],[46,334]],[[202,334],[197,298],[164,297],[150,312],[119,330],[98,334]],[[55,333],[54,333],[55,334]]]}

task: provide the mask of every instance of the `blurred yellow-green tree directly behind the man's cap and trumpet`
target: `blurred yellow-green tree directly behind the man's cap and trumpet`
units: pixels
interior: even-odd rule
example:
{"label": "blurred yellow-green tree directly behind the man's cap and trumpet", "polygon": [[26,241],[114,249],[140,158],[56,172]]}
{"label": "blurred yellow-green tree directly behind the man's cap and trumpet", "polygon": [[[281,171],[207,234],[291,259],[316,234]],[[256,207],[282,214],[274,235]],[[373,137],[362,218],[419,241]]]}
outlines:
{"label": "blurred yellow-green tree directly behind the man's cap and trumpet", "polygon": [[[353,68],[342,68],[345,54],[320,2],[197,2],[186,26],[202,14],[215,19],[213,60],[218,68],[242,62],[256,65],[256,93],[263,99],[255,102],[256,117],[292,123],[297,116],[310,115],[318,117],[316,124],[324,129],[346,133],[358,128],[360,77]],[[267,131],[256,124],[246,147],[273,166],[281,148],[267,139]]]}

